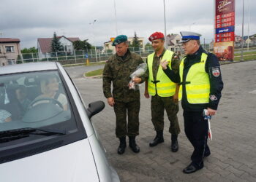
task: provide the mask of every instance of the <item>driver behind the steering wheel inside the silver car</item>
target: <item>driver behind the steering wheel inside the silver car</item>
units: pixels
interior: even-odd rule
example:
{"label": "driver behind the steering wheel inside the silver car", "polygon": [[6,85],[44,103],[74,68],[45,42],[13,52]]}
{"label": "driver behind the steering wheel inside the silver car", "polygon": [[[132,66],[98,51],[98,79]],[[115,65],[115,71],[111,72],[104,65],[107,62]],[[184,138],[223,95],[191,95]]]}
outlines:
{"label": "driver behind the steering wheel inside the silver car", "polygon": [[40,98],[53,98],[61,103],[64,111],[67,111],[67,97],[63,93],[59,92],[58,80],[59,78],[56,75],[42,77],[40,80],[42,95],[37,96],[34,100]]}

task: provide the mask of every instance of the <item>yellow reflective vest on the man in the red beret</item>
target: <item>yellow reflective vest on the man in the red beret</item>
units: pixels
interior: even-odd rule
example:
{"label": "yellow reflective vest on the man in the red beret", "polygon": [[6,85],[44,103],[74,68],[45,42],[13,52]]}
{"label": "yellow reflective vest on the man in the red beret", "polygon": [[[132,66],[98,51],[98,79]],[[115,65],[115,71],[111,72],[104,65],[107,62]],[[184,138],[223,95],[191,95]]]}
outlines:
{"label": "yellow reflective vest on the man in the red beret", "polygon": [[[171,69],[171,58],[173,58],[173,52],[170,50],[166,50],[165,54],[162,57],[162,60],[169,61],[169,68]],[[176,92],[176,84],[173,83],[168,76],[166,76],[165,72],[162,71],[162,66],[159,65],[157,71],[157,83],[154,82],[153,78],[153,60],[154,60],[154,53],[148,55],[148,93],[150,95],[157,95],[161,97],[170,97],[173,96]],[[159,81],[159,82],[158,82]],[[157,88],[156,88],[157,86]]]}

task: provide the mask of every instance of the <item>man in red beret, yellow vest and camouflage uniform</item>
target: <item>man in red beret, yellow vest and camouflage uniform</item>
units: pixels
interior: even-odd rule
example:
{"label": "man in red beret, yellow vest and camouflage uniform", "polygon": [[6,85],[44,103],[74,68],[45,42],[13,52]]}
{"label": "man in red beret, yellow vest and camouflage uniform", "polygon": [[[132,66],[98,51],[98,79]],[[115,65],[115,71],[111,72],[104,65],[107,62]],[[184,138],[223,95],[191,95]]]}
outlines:
{"label": "man in red beret, yellow vest and camouflage uniform", "polygon": [[156,137],[149,146],[157,146],[164,142],[164,111],[167,112],[170,121],[169,132],[171,133],[171,151],[178,151],[178,86],[173,83],[162,71],[160,62],[165,60],[169,67],[178,72],[179,58],[170,50],[165,50],[165,36],[161,32],[155,32],[148,38],[152,43],[154,53],[148,55],[148,81],[145,84],[145,97],[151,95],[151,116]]}

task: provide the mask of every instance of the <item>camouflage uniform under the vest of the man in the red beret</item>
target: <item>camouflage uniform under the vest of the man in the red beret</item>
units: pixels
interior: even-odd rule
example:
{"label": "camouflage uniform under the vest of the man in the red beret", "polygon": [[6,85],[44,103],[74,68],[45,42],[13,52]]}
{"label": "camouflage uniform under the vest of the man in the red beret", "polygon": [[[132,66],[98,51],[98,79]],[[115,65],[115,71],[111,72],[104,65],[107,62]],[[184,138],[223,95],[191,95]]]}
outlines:
{"label": "camouflage uniform under the vest of the man in the red beret", "polygon": [[[163,55],[165,54],[164,50],[159,57],[157,57],[157,54],[154,54],[153,59],[153,78],[154,81],[157,81],[157,72],[159,70],[159,64],[160,60],[162,59]],[[178,72],[179,67],[179,58],[176,54],[173,54],[173,57],[171,59],[171,68],[176,73]],[[156,95],[151,97],[151,116],[152,116],[152,122],[154,124],[154,129],[156,131],[160,131],[164,129],[164,111],[166,111],[168,119],[170,121],[170,127],[169,132],[173,135],[178,135],[180,132],[180,127],[178,125],[178,103],[173,102],[173,96],[170,97],[161,97]]]}

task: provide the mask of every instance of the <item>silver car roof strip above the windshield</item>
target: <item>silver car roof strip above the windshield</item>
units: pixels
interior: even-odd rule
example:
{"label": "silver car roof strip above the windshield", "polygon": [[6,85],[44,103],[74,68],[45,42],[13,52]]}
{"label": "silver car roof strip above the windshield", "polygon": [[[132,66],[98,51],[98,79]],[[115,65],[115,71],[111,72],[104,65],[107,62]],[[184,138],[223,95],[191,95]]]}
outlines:
{"label": "silver car roof strip above the windshield", "polygon": [[0,67],[1,74],[15,74],[30,71],[47,71],[47,70],[57,70],[58,66],[56,62],[39,62],[39,63],[23,63],[10,66]]}

